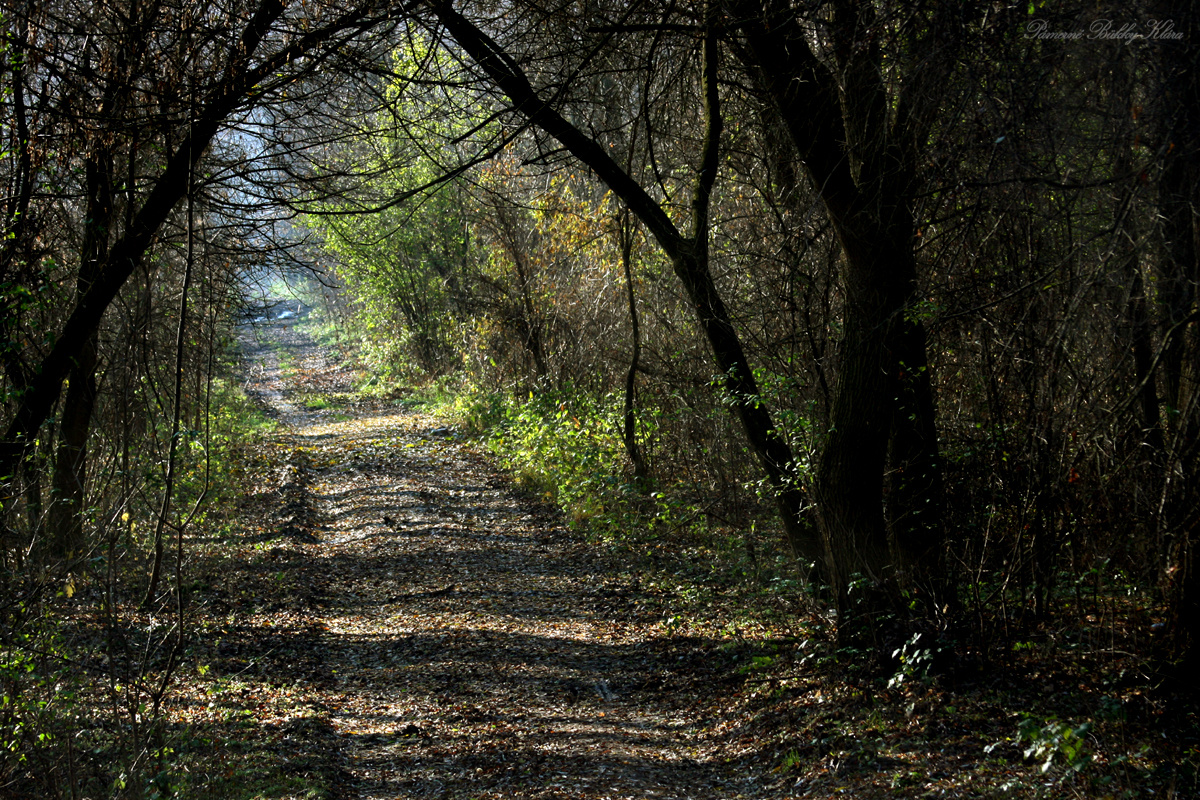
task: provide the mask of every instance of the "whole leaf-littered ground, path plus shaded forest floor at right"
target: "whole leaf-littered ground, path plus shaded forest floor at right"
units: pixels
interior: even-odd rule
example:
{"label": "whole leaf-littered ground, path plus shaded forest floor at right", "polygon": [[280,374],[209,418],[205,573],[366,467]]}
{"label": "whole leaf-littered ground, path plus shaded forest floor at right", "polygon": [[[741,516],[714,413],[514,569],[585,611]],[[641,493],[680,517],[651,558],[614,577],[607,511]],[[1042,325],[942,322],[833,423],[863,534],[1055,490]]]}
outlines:
{"label": "whole leaf-littered ground, path plus shaded forest floor at right", "polygon": [[797,596],[590,542],[294,321],[246,348],[280,426],[203,549],[190,796],[1196,796],[1194,706],[1099,627],[854,673]]}

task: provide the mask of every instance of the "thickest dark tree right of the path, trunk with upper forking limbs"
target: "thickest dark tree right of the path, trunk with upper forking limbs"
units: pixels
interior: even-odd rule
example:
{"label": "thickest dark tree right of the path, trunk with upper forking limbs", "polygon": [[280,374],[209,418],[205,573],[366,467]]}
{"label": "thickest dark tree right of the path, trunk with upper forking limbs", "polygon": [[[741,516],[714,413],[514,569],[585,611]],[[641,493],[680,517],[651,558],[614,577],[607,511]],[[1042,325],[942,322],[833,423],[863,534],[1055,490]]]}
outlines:
{"label": "thickest dark tree right of the path, trunk with upper forking limbs", "polygon": [[[790,5],[732,4],[746,64],[842,246],[845,337],[817,504],[840,618],[870,627],[877,613],[913,599],[934,613],[950,595],[932,383],[914,313],[913,164],[936,95],[912,86],[889,114],[877,46],[864,35],[870,5],[835,5],[836,78]],[[935,74],[929,67],[920,78]]]}

